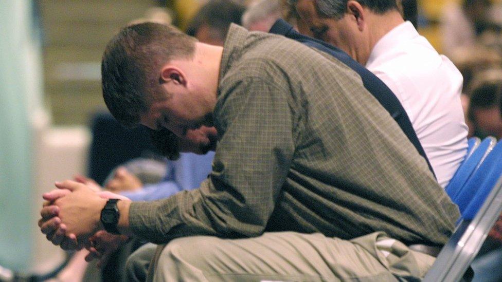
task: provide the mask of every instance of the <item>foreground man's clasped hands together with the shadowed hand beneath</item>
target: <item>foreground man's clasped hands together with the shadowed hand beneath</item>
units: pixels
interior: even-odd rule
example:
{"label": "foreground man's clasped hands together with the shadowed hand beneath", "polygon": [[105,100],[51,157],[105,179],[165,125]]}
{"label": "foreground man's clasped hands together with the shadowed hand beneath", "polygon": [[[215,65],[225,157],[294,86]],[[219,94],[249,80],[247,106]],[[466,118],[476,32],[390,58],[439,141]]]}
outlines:
{"label": "foreground man's clasped hands together with the shadowed hand beneath", "polygon": [[108,191],[97,191],[99,185],[95,183],[77,180],[80,182],[56,182],[58,189],[43,194],[45,202],[39,227],[49,241],[63,250],[87,249],[87,261],[109,256],[128,237],[102,230],[101,210],[108,199],[130,200]]}

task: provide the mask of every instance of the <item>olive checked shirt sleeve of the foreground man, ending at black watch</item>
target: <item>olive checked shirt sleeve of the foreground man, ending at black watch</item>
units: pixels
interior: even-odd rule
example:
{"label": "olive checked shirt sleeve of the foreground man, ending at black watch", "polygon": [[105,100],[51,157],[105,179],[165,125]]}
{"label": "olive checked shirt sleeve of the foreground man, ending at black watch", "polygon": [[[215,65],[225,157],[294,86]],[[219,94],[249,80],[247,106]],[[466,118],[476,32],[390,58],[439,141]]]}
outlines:
{"label": "olive checked shirt sleeve of the foreground man, ending at black watch", "polygon": [[214,111],[221,136],[201,187],[155,202],[133,202],[134,233],[155,243],[190,235],[260,235],[294,153],[288,91],[247,78],[222,90]]}

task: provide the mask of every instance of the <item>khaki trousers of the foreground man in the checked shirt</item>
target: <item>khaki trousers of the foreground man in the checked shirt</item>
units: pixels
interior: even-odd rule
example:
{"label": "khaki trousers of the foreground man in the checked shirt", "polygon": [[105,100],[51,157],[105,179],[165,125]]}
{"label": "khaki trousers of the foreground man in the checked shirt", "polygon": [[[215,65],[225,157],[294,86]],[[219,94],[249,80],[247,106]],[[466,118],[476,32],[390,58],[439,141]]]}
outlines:
{"label": "khaki trousers of the foreground man in the checked shirt", "polygon": [[295,232],[193,236],[159,246],[147,280],[420,281],[434,260],[382,232],[352,240]]}

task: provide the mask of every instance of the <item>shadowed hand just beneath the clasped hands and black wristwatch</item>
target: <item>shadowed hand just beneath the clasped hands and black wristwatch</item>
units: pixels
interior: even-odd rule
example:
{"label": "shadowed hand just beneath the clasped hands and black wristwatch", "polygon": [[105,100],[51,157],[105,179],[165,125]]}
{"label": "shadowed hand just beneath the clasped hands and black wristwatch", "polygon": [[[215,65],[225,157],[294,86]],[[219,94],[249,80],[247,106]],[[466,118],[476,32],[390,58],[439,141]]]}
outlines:
{"label": "shadowed hand just beneath the clasped hands and black wristwatch", "polygon": [[89,238],[85,248],[89,254],[85,256],[85,261],[99,259],[98,267],[103,267],[107,264],[112,254],[120,248],[129,239],[126,235],[110,234],[104,230],[100,230]]}

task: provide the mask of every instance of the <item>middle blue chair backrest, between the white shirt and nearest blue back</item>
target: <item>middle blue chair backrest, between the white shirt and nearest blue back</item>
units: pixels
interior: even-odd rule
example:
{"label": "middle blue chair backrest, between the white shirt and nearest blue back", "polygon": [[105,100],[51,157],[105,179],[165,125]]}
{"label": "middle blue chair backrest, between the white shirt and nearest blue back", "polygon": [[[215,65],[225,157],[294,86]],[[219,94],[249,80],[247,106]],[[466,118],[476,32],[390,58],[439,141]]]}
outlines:
{"label": "middle blue chair backrest, between the white shirt and nearest blue back", "polygon": [[466,156],[466,159],[457,168],[450,183],[446,185],[445,191],[448,196],[457,203],[457,197],[462,187],[467,183],[472,174],[479,165],[485,160],[486,156],[492,151],[497,140],[494,137],[487,137],[475,148],[475,150]]}

